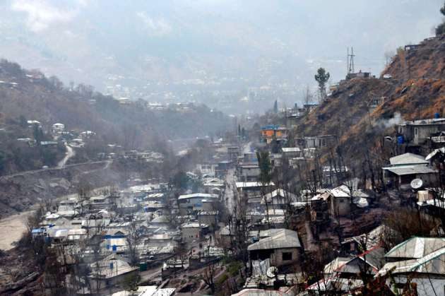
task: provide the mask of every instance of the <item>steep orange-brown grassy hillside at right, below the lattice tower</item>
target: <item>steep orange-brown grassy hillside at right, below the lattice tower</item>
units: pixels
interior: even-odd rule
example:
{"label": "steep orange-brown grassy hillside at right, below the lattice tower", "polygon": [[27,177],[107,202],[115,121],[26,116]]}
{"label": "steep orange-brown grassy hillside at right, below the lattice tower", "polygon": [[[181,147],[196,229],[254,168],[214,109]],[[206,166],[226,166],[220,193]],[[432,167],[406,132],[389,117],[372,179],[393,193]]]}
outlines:
{"label": "steep orange-brown grassy hillside at right, below the lattice tower", "polygon": [[399,49],[383,72],[390,73],[390,79],[342,81],[338,90],[300,119],[297,134],[334,134],[346,155],[360,158],[383,136],[393,136],[394,126],[403,119],[432,118],[437,112],[445,116],[443,42],[445,38],[439,37],[416,49]]}

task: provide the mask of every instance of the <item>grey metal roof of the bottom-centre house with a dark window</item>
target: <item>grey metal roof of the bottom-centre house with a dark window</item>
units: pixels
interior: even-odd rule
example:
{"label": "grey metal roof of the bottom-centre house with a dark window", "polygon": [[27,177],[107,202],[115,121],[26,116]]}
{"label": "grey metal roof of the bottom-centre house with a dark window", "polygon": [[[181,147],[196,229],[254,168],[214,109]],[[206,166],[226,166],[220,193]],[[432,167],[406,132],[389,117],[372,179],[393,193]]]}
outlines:
{"label": "grey metal roof of the bottom-centre house with a dark window", "polygon": [[275,233],[271,237],[260,239],[259,242],[251,244],[247,249],[249,251],[261,249],[285,249],[285,248],[299,248],[298,233],[293,230],[283,229]]}

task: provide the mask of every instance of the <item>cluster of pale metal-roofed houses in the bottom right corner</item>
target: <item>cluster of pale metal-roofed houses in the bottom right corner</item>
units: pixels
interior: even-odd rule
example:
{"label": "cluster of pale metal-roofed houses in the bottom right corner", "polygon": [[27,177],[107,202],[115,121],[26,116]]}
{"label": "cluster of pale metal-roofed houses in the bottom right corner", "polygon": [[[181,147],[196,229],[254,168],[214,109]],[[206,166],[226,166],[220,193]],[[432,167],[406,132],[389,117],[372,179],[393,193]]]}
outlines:
{"label": "cluster of pale metal-roofed houses in the bottom right corner", "polygon": [[[346,295],[367,288],[379,295],[443,295],[445,239],[411,237],[385,251],[382,239],[396,235],[385,226],[342,242],[340,256],[324,266],[307,294]],[[410,287],[410,288],[407,288]]]}

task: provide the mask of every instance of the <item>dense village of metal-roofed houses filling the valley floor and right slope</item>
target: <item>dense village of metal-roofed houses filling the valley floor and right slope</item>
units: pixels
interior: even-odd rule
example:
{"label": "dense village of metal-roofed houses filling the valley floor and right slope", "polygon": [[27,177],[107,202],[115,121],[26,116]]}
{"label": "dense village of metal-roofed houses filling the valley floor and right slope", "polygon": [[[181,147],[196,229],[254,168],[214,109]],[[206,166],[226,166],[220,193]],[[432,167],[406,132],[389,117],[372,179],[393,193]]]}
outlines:
{"label": "dense village of metal-roofed houses filling the valley floor and right slope", "polygon": [[[44,279],[54,291],[120,295],[119,288],[143,282],[149,285],[133,293],[297,295],[408,288],[430,295],[445,281],[440,269],[444,127],[438,114],[398,124],[396,150],[411,152],[381,167],[383,182],[374,180],[381,188],[340,163],[321,167],[320,179],[309,179],[296,191],[292,182],[270,172],[308,169],[335,137],[295,138],[298,145],[272,153],[268,147],[289,138],[289,129],[263,126],[256,140],[240,136],[235,143],[209,143],[209,158],[171,182],[135,179],[140,184],[125,189],[49,201],[36,213],[28,239],[33,248],[42,247],[35,244],[41,239],[49,247],[46,256],[54,256]],[[426,157],[413,153],[424,149],[431,151]],[[391,219],[394,208],[400,211]],[[16,287],[8,284],[3,291]]]}

